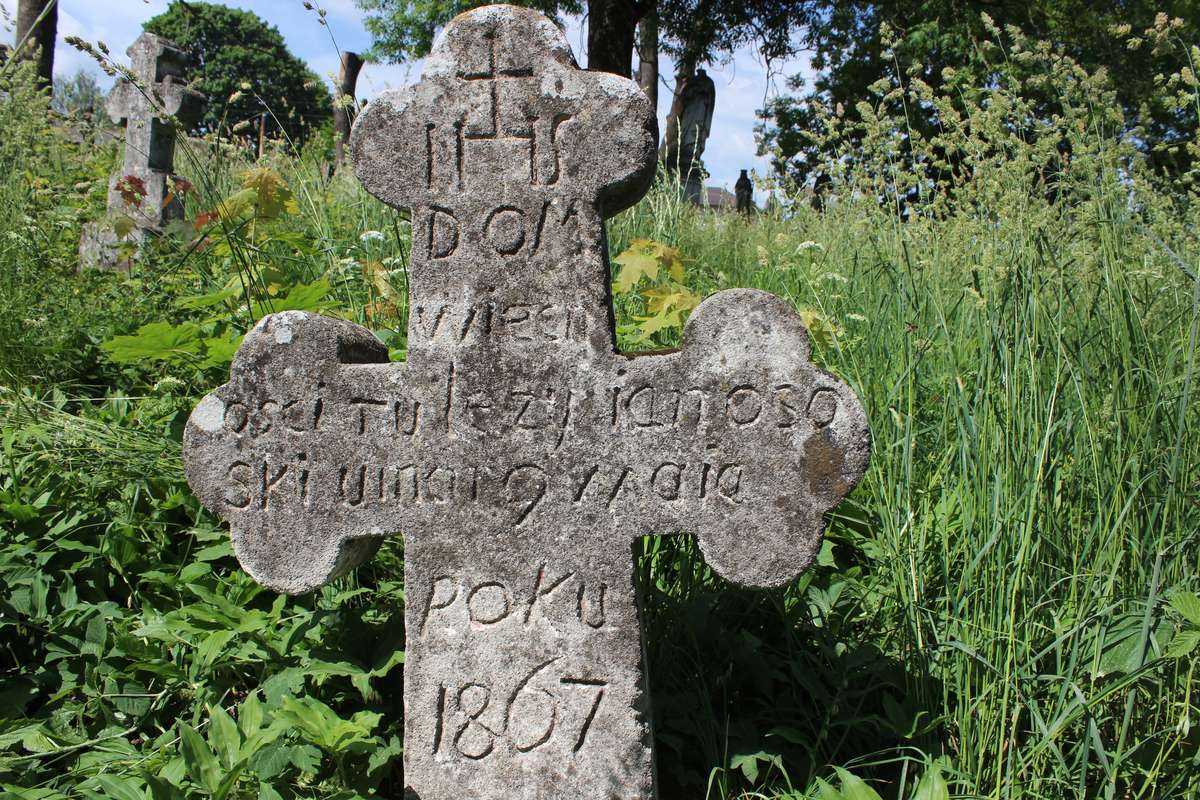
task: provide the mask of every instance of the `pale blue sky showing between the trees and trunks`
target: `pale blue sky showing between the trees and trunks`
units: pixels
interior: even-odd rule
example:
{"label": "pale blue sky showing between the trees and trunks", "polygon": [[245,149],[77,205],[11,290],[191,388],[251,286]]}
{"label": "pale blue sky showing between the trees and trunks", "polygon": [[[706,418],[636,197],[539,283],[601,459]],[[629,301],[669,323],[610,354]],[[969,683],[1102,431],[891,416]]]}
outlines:
{"label": "pale blue sky showing between the trees and trunks", "polygon": [[[55,73],[73,74],[76,70],[89,70],[106,84],[88,56],[62,43],[64,36],[79,36],[90,42],[102,41],[112,52],[124,59],[125,48],[142,31],[142,23],[167,8],[168,0],[59,0],[59,46],[55,50]],[[308,62],[313,72],[331,80],[337,71],[337,49],[365,50],[371,38],[362,26],[364,12],[354,0],[320,0],[326,11],[328,26],[319,23],[316,12],[307,11],[302,0],[222,0],[222,5],[253,11],[280,29],[288,47]],[[17,0],[0,0],[0,7],[16,13]],[[2,14],[0,14],[2,19]],[[576,59],[586,65],[583,52],[587,34],[583,20],[566,20],[566,37]],[[12,42],[13,34],[6,30],[0,40]],[[335,48],[336,42],[336,48]],[[704,162],[712,173],[709,184],[733,188],[739,169],[756,169],[766,174],[767,162],[755,156],[755,110],[763,98],[784,89],[784,79],[806,70],[806,59],[773,65],[772,79],[762,60],[751,49],[739,50],[728,64],[714,64],[708,73],[716,84],[716,110],[713,115],[713,134],[704,151]],[[664,60],[660,72],[665,80],[672,80],[673,66]],[[420,64],[384,65],[368,64],[359,77],[359,96],[371,98],[380,91],[415,82],[420,76]],[[671,89],[659,88],[659,120],[666,116]],[[761,198],[758,198],[761,200]]]}

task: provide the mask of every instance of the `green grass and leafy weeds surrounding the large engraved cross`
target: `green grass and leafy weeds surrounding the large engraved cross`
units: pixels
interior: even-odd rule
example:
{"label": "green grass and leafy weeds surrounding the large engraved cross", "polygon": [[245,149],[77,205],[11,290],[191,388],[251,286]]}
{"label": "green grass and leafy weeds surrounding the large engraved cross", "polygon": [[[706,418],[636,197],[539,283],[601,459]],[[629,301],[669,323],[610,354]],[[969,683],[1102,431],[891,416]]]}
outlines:
{"label": "green grass and leafy weeds surrounding the large engraved cross", "polygon": [[[228,219],[130,276],[80,275],[115,154],[18,102],[0,106],[24,143],[0,143],[0,796],[398,796],[398,543],[312,596],[262,590],[187,493],[179,431],[227,373],[202,341],[298,285],[328,283],[312,302],[400,357],[407,223],[322,154],[277,152],[295,207],[258,235]],[[823,211],[799,191],[743,221],[660,186],[610,223],[613,253],[678,248],[692,291],[787,297],[874,434],[786,589],[731,587],[688,540],[640,545],[664,800],[1200,796],[1198,198],[1084,106],[1055,196],[1043,139],[989,106],[956,139],[971,176],[918,185],[940,199],[906,219],[881,122]],[[190,219],[251,166],[184,163]],[[623,341],[642,309],[618,297]],[[106,349],[155,323],[196,349]]]}

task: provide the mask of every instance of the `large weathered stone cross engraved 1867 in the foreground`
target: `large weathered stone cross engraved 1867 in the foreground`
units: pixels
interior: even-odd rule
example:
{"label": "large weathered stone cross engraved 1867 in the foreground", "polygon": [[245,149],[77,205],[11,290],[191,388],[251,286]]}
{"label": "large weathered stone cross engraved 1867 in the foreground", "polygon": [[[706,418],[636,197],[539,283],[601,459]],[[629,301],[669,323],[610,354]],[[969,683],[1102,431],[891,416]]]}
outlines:
{"label": "large weathered stone cross engraved 1867 in the foreground", "polygon": [[780,585],[866,467],[862,404],[773,295],[617,351],[604,219],[655,140],[637,84],[581,71],[541,14],[455,18],[350,142],[412,211],[407,362],[274,314],[188,421],[187,479],[259,582],[307,591],[403,534],[410,799],[653,798],[635,539],[695,533],[721,575]]}

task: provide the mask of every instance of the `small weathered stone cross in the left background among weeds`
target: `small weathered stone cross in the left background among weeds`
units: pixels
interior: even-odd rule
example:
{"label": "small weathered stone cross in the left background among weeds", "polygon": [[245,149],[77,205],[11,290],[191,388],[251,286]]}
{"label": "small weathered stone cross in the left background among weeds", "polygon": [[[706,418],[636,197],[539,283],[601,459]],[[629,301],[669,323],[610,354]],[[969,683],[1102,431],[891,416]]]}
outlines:
{"label": "small weathered stone cross in the left background among weeds", "polygon": [[[174,42],[142,34],[126,53],[137,83],[121,80],[104,102],[113,122],[125,125],[125,161],[109,181],[108,211],[114,217],[131,217],[131,239],[140,243],[146,233],[184,216],[173,187],[176,124],[191,125],[199,119],[204,95],[184,85],[188,55]],[[131,187],[133,196],[145,191],[140,200],[127,201],[133,197]],[[83,266],[127,269],[118,246],[112,219],[90,223],[79,241],[79,261]]]}

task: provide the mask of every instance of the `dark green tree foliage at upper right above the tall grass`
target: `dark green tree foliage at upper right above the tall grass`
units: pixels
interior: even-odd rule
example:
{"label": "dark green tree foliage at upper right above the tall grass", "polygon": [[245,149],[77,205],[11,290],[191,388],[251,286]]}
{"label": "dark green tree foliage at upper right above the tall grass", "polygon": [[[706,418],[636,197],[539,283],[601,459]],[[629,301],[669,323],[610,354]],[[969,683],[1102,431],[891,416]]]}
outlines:
{"label": "dark green tree foliage at upper right above the tall grass", "polygon": [[[797,95],[768,103],[769,124],[762,133],[775,169],[800,181],[820,180],[818,164],[829,156],[809,146],[822,116],[839,109],[839,115],[859,121],[858,103],[871,98],[871,86],[881,80],[900,76],[902,82],[928,84],[935,94],[977,98],[1003,76],[1031,77],[1038,67],[1010,59],[997,30],[1044,42],[1085,70],[1103,70],[1126,131],[1156,167],[1168,174],[1188,168],[1182,145],[1195,138],[1189,122],[1195,109],[1180,108],[1162,84],[1164,74],[1178,70],[1187,43],[1200,41],[1196,0],[805,0],[799,16],[815,76],[791,78]],[[1154,36],[1145,31],[1156,28],[1159,41],[1147,41]],[[1037,100],[1040,112],[1055,112],[1052,86]],[[940,125],[934,106],[894,108],[899,96],[883,104],[889,102],[884,112],[899,112],[922,134]]]}

